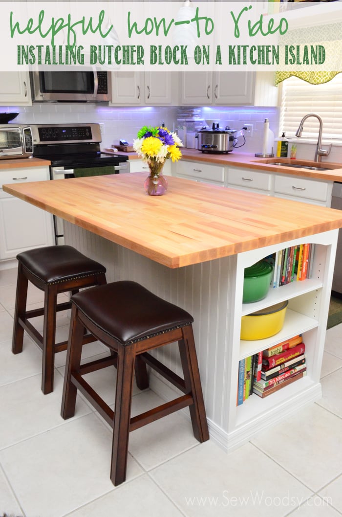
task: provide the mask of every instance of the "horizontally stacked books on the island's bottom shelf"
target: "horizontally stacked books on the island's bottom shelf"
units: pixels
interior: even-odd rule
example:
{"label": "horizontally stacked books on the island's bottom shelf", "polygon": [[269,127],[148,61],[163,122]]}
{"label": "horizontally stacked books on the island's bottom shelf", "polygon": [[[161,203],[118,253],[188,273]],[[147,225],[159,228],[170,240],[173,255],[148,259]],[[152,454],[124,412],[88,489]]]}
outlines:
{"label": "horizontally stacked books on the island's bottom shelf", "polygon": [[268,397],[306,375],[305,344],[301,334],[262,352],[260,379],[254,379],[253,393]]}

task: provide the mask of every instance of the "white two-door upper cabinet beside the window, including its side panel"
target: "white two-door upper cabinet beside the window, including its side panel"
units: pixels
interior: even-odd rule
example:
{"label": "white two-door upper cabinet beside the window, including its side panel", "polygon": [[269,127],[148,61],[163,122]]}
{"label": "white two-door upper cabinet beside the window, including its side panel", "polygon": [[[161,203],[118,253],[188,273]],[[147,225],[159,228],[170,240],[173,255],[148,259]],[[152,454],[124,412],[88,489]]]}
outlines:
{"label": "white two-door upper cabinet beside the window, including its side panel", "polygon": [[276,106],[272,72],[181,72],[180,104]]}

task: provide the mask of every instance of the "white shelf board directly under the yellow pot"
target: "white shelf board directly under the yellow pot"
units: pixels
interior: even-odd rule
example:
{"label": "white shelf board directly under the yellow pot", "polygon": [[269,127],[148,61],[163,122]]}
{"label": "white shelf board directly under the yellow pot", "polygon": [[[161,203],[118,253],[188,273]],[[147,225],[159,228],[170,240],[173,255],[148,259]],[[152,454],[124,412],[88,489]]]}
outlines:
{"label": "white shelf board directly under the yellow pot", "polygon": [[257,339],[253,341],[240,340],[240,357],[243,359],[249,357],[260,350],[266,350],[271,346],[281,343],[286,339],[292,338],[297,334],[302,334],[313,328],[318,327],[318,321],[313,318],[309,318],[300,312],[292,311],[291,309],[286,310],[285,322],[282,330],[266,339]]}

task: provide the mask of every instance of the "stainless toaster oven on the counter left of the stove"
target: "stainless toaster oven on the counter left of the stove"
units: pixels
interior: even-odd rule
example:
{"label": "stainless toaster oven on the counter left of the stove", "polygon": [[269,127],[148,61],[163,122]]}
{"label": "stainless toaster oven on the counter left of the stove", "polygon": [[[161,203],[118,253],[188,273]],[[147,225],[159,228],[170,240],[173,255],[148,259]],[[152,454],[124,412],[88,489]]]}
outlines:
{"label": "stainless toaster oven on the counter left of the stove", "polygon": [[33,154],[32,131],[26,124],[0,124],[0,159],[28,158]]}

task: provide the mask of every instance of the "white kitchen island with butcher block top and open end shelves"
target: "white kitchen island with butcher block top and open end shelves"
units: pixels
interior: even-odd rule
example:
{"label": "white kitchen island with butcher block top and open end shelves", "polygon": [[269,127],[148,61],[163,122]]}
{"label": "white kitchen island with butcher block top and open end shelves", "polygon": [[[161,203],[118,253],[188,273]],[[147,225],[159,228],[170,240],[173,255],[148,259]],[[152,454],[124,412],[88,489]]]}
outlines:
{"label": "white kitchen island with butcher block top and open end shelves", "polygon": [[[338,228],[342,212],[170,177],[164,196],[147,196],[146,174],[97,176],[4,186],[66,221],[67,243],[107,267],[108,281],[130,279],[193,314],[211,437],[240,445],[317,400]],[[244,268],[295,244],[315,243],[312,278],[242,303]],[[241,316],[289,300],[285,325],[266,340],[240,340]],[[266,399],[237,407],[239,360],[298,333],[307,376]],[[174,345],[158,352],[171,368]],[[172,398],[151,375],[151,387]]]}

